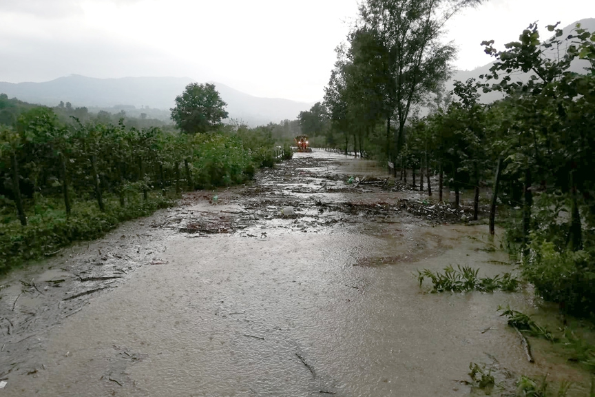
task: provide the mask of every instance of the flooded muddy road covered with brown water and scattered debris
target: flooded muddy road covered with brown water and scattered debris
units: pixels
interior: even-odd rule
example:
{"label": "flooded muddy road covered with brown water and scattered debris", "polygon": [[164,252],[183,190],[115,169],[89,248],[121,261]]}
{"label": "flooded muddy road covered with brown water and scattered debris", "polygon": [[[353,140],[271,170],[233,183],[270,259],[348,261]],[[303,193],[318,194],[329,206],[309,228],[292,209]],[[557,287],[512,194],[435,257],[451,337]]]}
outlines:
{"label": "flooded muddy road covered with brown water and scattered debris", "polygon": [[587,375],[539,344],[528,363],[499,316],[534,307],[530,292],[419,287],[417,269],[514,267],[486,225],[461,221],[469,208],[387,179],[370,161],[296,154],[13,272],[0,395],[480,395],[471,362],[503,395],[520,374],[585,391]]}

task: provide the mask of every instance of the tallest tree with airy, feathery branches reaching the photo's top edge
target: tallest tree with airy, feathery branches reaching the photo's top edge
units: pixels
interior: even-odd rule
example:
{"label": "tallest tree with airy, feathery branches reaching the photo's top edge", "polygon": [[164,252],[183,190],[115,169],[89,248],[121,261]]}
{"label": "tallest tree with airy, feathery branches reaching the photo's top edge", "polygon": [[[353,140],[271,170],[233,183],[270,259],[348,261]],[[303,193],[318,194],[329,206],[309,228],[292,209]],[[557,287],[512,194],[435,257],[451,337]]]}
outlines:
{"label": "tallest tree with airy, feathery branches reaching the photo's top edge", "polygon": [[444,23],[462,8],[479,3],[481,0],[366,0],[360,6],[361,24],[377,32],[388,57],[384,73],[395,82],[387,85],[384,100],[387,141],[393,115],[397,121],[397,153],[404,144],[412,106],[448,77],[448,62],[455,48],[440,41]]}

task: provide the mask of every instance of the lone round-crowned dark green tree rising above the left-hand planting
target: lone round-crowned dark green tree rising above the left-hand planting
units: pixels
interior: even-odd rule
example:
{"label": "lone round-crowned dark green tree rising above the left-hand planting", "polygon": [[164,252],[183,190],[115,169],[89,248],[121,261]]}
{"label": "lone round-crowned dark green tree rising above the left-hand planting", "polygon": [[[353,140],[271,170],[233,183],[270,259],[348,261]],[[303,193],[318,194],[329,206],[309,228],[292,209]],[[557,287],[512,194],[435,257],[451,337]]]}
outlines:
{"label": "lone round-crowned dark green tree rising above the left-hand planting", "polygon": [[214,84],[190,83],[181,95],[176,96],[171,119],[187,134],[216,130],[221,120],[227,118],[226,105]]}

